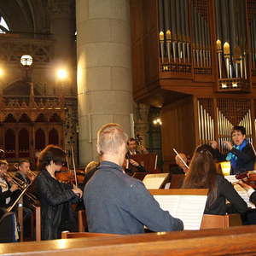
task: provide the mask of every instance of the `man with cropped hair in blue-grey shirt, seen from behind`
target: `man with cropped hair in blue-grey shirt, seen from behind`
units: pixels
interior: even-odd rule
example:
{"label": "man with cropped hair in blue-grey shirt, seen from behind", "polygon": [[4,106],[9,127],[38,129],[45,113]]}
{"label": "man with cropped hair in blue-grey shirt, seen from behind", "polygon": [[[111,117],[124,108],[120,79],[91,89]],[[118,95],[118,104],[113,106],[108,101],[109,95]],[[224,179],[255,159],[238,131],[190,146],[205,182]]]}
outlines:
{"label": "man with cropped hair in blue-grey shirt, seen from behind", "polygon": [[163,211],[143,183],[126,175],[127,135],[118,124],[103,125],[97,133],[101,165],[84,188],[89,232],[137,234],[144,225],[153,231],[183,230],[183,222]]}

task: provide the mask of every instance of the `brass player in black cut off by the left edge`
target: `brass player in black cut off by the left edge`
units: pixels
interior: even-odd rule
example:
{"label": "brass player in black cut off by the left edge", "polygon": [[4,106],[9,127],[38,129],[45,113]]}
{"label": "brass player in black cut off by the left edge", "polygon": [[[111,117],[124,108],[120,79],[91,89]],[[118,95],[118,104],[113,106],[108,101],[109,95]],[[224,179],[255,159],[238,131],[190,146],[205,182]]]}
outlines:
{"label": "brass player in black cut off by the left edge", "polygon": [[16,184],[11,184],[11,178],[6,177],[8,162],[0,160],[0,207],[8,208],[11,204],[11,196],[18,189]]}

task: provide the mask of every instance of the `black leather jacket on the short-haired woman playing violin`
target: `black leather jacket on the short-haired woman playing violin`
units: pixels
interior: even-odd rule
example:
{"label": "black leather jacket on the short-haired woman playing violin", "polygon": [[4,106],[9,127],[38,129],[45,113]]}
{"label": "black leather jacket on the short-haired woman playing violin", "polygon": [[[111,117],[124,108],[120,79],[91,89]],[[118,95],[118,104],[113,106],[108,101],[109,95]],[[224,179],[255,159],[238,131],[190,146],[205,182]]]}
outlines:
{"label": "black leather jacket on the short-haired woman playing violin", "polygon": [[41,202],[42,240],[57,239],[63,229],[76,230],[71,203],[78,197],[73,186],[60,183],[43,170],[36,178],[38,199]]}

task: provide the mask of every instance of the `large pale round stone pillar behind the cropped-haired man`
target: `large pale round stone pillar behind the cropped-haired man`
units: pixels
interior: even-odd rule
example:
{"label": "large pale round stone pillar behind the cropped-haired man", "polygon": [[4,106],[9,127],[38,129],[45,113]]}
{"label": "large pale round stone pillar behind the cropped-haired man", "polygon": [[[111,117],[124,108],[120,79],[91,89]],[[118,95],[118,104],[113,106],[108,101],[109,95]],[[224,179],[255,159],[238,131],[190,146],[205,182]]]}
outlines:
{"label": "large pale round stone pillar behind the cropped-haired man", "polygon": [[130,135],[129,0],[77,0],[80,164],[96,160],[96,131],[115,122]]}

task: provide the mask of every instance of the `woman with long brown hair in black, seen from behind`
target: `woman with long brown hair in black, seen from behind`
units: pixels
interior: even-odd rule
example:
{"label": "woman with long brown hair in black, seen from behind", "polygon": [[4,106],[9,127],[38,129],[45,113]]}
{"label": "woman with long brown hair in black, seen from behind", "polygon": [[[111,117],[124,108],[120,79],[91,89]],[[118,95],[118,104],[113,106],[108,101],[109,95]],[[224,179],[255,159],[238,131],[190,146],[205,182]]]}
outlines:
{"label": "woman with long brown hair in black, seen from behind", "polygon": [[[203,144],[195,149],[183,189],[209,189],[205,214],[224,215],[226,212],[247,211],[247,203],[237,194],[232,184],[218,174],[213,160],[214,150]],[[226,200],[230,205],[226,206]]]}

